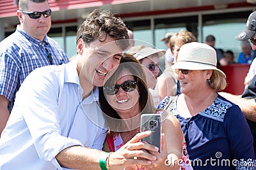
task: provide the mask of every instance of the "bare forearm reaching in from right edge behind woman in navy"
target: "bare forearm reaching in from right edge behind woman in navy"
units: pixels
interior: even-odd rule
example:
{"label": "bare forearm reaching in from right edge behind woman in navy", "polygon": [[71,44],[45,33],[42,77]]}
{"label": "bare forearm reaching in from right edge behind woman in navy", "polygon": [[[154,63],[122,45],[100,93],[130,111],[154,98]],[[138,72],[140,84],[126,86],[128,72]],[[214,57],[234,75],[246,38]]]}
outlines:
{"label": "bare forearm reaching in from right edge behind woman in navy", "polygon": [[256,122],[256,103],[255,99],[244,99],[242,97],[236,96],[234,94],[229,94],[226,92],[220,92],[220,96],[225,97],[234,104],[237,104],[241,111],[243,111],[244,116],[253,122]]}

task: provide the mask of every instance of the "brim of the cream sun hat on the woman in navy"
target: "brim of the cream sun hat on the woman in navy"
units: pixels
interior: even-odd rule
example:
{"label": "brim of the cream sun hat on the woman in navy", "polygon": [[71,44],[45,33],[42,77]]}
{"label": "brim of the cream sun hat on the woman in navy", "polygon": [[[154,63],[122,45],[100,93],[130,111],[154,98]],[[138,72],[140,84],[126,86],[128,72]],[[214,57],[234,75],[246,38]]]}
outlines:
{"label": "brim of the cream sun hat on the woman in navy", "polygon": [[173,70],[175,69],[188,69],[188,70],[204,70],[204,69],[215,69],[219,71],[226,78],[226,74],[218,69],[216,66],[206,65],[199,62],[189,62],[189,61],[178,61],[172,65]]}

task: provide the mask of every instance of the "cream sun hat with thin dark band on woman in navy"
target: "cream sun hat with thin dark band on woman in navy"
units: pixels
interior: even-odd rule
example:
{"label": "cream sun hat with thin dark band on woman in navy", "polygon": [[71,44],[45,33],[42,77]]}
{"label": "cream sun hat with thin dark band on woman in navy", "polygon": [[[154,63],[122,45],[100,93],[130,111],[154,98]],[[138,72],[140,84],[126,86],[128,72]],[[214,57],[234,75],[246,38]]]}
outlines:
{"label": "cream sun hat with thin dark band on woman in navy", "polygon": [[217,57],[214,48],[205,43],[186,43],[179,50],[177,62],[173,69],[204,70],[215,69],[226,77],[217,67]]}

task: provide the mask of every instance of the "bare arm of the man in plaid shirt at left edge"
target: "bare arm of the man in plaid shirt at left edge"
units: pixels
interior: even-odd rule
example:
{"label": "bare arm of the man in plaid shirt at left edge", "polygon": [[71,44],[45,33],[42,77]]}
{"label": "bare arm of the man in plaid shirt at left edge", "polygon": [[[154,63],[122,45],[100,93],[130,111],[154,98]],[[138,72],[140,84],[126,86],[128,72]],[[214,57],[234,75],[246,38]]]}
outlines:
{"label": "bare arm of the man in plaid shirt at left edge", "polygon": [[9,104],[9,100],[6,99],[6,97],[0,95],[0,137],[1,137],[1,133],[4,130],[4,127],[6,125],[8,118],[10,117],[8,104]]}

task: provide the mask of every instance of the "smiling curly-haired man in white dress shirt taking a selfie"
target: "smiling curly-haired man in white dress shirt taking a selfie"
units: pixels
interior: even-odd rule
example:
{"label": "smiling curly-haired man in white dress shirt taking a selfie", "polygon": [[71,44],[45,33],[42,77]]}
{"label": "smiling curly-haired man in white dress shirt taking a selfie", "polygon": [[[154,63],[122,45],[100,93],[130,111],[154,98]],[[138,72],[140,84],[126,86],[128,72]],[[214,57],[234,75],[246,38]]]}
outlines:
{"label": "smiling curly-haired man in white dress shirt taking a selfie", "polygon": [[[98,87],[129,45],[124,22],[95,10],[77,31],[77,57],[61,66],[35,69],[22,83],[0,139],[0,169],[122,169],[151,164],[156,157],[136,142],[120,152],[100,151],[106,125]],[[138,153],[138,150],[141,150]],[[134,160],[143,157],[145,160]]]}

